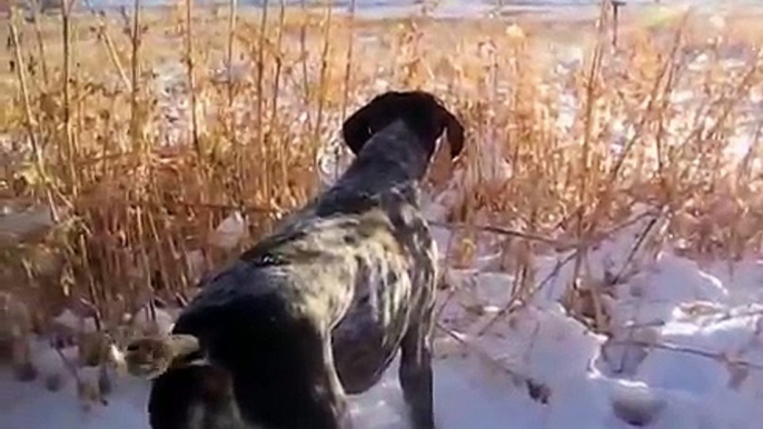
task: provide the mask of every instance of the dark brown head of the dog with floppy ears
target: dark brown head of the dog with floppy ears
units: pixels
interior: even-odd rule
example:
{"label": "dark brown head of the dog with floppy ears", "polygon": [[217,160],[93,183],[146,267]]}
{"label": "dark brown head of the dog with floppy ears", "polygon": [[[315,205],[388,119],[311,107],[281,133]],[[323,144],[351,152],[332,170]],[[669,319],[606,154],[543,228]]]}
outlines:
{"label": "dark brown head of the dog with floppy ears", "polygon": [[434,153],[437,138],[444,130],[452,159],[464,149],[462,123],[435,96],[425,91],[389,91],[376,96],[347,118],[341,130],[345,142],[358,154],[368,139],[396,120],[404,121],[418,136],[427,158]]}

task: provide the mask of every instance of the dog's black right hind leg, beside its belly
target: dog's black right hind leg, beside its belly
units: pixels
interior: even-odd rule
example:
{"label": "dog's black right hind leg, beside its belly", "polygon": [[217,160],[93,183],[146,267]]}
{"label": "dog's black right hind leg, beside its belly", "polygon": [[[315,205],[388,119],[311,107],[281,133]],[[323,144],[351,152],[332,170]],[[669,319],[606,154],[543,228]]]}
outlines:
{"label": "dog's black right hind leg, beside its belly", "polygon": [[280,332],[266,347],[226,342],[231,353],[239,351],[231,365],[238,369],[234,391],[247,422],[258,428],[353,429],[330,339],[311,321],[278,320],[276,329]]}

